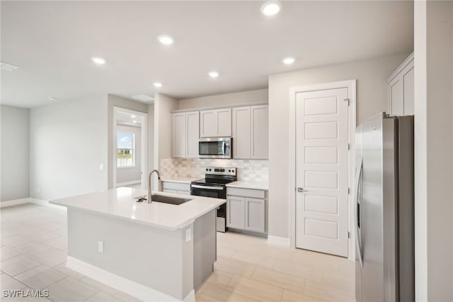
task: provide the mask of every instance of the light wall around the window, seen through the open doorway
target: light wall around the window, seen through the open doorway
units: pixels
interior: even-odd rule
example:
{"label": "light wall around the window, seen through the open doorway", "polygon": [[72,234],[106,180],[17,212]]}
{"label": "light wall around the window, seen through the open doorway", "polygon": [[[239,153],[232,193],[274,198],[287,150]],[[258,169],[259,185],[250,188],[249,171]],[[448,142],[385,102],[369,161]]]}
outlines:
{"label": "light wall around the window, seen through the open doorway", "polygon": [[116,183],[142,181],[142,128],[130,125],[117,125],[117,131],[134,133],[134,167],[116,169]]}

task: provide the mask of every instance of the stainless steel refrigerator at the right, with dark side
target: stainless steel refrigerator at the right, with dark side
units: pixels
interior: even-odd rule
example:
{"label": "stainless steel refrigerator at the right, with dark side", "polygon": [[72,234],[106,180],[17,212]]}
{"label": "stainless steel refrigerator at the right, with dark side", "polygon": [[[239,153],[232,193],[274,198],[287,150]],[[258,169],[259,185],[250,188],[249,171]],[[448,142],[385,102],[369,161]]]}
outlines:
{"label": "stainless steel refrigerator at the right, with dark side", "polygon": [[355,132],[355,298],[414,301],[413,116]]}

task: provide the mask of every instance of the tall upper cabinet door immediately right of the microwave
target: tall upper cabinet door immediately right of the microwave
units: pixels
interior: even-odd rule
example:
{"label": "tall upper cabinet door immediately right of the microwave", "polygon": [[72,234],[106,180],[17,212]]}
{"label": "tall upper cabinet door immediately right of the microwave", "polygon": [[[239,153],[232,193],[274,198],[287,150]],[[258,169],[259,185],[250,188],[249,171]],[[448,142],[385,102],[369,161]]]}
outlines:
{"label": "tall upper cabinet door immediately right of the microwave", "polygon": [[249,159],[251,152],[250,106],[233,108],[233,158]]}

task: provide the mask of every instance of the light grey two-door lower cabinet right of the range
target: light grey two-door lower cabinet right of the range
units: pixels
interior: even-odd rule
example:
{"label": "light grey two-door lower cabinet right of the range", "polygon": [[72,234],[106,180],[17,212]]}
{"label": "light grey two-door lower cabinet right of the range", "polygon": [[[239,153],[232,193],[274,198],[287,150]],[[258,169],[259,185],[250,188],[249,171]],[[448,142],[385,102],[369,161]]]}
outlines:
{"label": "light grey two-door lower cabinet right of the range", "polygon": [[254,233],[266,233],[265,191],[226,189],[226,226]]}

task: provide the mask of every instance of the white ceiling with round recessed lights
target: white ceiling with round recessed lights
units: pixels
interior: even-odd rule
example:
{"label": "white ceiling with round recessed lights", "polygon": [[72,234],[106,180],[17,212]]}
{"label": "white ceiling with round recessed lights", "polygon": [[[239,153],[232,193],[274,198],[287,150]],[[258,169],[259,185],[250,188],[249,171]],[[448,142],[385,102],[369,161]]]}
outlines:
{"label": "white ceiling with round recessed lights", "polygon": [[[183,99],[264,88],[268,74],[413,50],[413,1],[1,1],[1,103],[88,94]],[[156,36],[172,35],[171,46]],[[94,65],[91,57],[107,60]],[[283,57],[297,61],[283,65]],[[210,79],[216,69],[220,77]]]}

